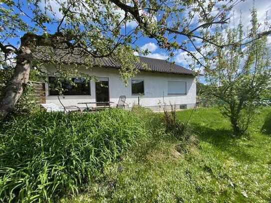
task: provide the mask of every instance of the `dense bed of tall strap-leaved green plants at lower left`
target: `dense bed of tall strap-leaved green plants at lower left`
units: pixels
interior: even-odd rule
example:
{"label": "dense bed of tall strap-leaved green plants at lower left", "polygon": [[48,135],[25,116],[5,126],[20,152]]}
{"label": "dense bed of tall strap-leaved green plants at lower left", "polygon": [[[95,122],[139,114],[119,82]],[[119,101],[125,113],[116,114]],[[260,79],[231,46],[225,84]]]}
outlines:
{"label": "dense bed of tall strap-leaved green plants at lower left", "polygon": [[82,116],[36,112],[0,125],[2,202],[52,202],[76,194],[148,134],[138,117],[118,109]]}

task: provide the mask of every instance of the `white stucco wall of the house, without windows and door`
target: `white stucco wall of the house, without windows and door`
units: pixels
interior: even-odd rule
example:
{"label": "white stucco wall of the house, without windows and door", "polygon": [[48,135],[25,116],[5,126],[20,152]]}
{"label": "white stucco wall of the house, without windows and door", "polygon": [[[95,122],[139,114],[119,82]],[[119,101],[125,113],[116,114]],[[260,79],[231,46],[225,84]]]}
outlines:
{"label": "white stucco wall of the house, without windows and door", "polygon": [[[48,71],[48,75],[55,71],[52,65],[46,65],[45,68]],[[126,87],[125,84],[119,78],[118,69],[114,68],[92,68],[81,69],[80,72],[94,75],[97,77],[109,78],[109,98],[112,102],[118,102],[120,95],[126,96],[126,105],[131,108],[133,104],[138,103],[138,96],[132,95],[131,91],[131,79],[143,79],[145,94],[140,96],[140,105],[145,107],[154,107],[163,105],[163,95],[166,104],[188,104],[188,108],[192,107],[196,103],[196,79],[193,76],[157,73],[157,72],[140,72],[136,77],[129,80],[129,84]],[[187,82],[187,94],[182,95],[168,95],[168,81],[186,81]],[[79,107],[85,107],[85,105],[78,105],[79,102],[95,102],[95,82],[90,82],[91,95],[65,95],[65,98],[61,97],[61,101],[64,105],[77,105]],[[59,105],[57,96],[48,95],[48,89],[46,90],[46,103],[55,103]],[[90,105],[91,106],[91,105]],[[92,105],[93,106],[93,105]]]}

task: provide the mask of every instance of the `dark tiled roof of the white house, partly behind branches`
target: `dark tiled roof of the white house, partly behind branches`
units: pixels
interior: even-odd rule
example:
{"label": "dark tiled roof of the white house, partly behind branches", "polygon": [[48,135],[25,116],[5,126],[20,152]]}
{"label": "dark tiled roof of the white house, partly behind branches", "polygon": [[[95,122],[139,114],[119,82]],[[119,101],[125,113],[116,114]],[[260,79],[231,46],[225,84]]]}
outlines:
{"label": "dark tiled roof of the white house, partly behind branches", "polygon": [[[78,49],[74,49],[72,52],[69,52],[67,49],[62,48],[53,49],[52,47],[37,46],[36,51],[33,52],[33,56],[35,60],[40,61],[54,61],[77,64],[93,63],[95,65],[101,65],[104,67],[120,68],[120,64],[116,60],[108,57],[93,58],[91,59],[91,61],[87,62],[86,59],[80,55],[80,50]],[[140,63],[135,64],[135,66],[139,70],[144,70],[143,63],[145,63],[148,66],[147,71],[193,75],[192,70],[174,63],[169,63],[166,60],[148,58],[143,56],[139,56],[139,58]]]}

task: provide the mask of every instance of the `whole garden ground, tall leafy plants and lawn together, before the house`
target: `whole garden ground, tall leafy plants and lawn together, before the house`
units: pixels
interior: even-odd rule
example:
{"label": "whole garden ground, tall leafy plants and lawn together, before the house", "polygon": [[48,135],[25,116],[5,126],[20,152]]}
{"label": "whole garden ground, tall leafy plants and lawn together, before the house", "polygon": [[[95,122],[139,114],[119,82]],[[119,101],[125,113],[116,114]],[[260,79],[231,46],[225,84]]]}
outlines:
{"label": "whole garden ground, tall leafy plants and lawn together, before the house", "polygon": [[0,199],[270,201],[271,108],[242,138],[219,110],[192,111],[176,112],[179,126],[191,117],[181,137],[145,108],[14,116],[0,128]]}

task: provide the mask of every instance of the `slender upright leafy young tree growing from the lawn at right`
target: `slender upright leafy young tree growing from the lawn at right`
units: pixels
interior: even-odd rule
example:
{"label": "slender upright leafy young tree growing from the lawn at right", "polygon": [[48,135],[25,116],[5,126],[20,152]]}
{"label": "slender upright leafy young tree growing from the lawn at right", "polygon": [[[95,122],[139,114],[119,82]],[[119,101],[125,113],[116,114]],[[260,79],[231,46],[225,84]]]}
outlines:
{"label": "slender upright leafy young tree growing from the lawn at right", "polygon": [[[215,47],[217,55],[206,68],[210,95],[223,101],[222,113],[229,117],[236,135],[244,134],[253,120],[259,101],[271,85],[270,48],[267,36],[258,38],[260,24],[257,11],[252,12],[252,28],[247,35],[242,22],[228,28],[226,35],[216,34],[217,43],[233,44],[225,48]],[[268,26],[267,20],[265,26]],[[243,37],[251,42],[244,45]]]}

